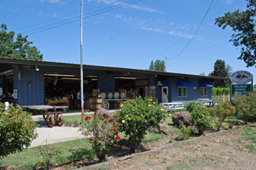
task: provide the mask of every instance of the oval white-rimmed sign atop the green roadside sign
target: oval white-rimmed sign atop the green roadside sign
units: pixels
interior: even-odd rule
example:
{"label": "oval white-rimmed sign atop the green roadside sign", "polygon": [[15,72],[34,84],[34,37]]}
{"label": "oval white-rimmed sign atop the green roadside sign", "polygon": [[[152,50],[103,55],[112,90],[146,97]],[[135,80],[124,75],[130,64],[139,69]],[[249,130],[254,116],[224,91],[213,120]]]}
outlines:
{"label": "oval white-rimmed sign atop the green roadside sign", "polygon": [[248,71],[236,71],[230,75],[230,80],[236,84],[246,84],[253,79],[252,73]]}

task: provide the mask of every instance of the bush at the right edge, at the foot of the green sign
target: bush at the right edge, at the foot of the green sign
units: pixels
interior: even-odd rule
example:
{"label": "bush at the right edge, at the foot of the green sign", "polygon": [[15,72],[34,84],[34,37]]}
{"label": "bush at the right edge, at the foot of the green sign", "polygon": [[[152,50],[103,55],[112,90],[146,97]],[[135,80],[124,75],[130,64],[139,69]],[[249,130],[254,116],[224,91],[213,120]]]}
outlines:
{"label": "bush at the right edge, at the foot of the green sign", "polygon": [[246,95],[235,95],[234,101],[236,104],[236,116],[241,118],[245,123],[248,119],[256,117],[256,93]]}

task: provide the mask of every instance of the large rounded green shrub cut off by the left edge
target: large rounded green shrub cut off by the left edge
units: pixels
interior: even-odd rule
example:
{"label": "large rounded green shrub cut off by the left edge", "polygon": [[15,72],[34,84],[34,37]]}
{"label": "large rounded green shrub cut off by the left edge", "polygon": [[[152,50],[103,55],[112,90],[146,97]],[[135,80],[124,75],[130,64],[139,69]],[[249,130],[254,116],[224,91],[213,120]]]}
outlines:
{"label": "large rounded green shrub cut off by the left edge", "polygon": [[37,137],[35,128],[31,114],[12,104],[4,111],[0,103],[0,158],[28,147]]}

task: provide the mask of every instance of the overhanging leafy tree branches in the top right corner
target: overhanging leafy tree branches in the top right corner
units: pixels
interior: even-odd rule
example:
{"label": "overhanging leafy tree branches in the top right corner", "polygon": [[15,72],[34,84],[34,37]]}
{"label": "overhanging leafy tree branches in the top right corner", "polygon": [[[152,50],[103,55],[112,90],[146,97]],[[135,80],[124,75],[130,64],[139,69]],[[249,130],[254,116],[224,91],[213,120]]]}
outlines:
{"label": "overhanging leafy tree branches in the top right corner", "polygon": [[225,29],[230,26],[235,33],[232,34],[230,42],[235,47],[241,47],[238,59],[243,60],[247,67],[256,64],[256,32],[255,32],[255,2],[247,0],[247,10],[226,13],[216,19],[215,24]]}

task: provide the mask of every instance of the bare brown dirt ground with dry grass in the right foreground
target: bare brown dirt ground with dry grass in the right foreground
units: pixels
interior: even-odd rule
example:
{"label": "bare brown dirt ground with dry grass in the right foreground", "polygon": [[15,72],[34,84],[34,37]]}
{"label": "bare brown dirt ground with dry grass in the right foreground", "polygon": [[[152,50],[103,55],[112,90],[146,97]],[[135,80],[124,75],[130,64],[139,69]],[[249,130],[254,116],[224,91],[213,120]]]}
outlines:
{"label": "bare brown dirt ground with dry grass in the right foreground", "polygon": [[[218,133],[207,133],[206,136],[195,138],[191,141],[174,142],[174,144],[169,144],[160,150],[140,153],[125,160],[112,161],[108,165],[89,169],[253,170],[256,169],[256,153],[254,149],[254,152],[251,152],[246,147],[249,141],[246,141],[241,136],[244,128],[233,127],[233,129],[223,130]],[[256,131],[255,124],[251,128]]]}

